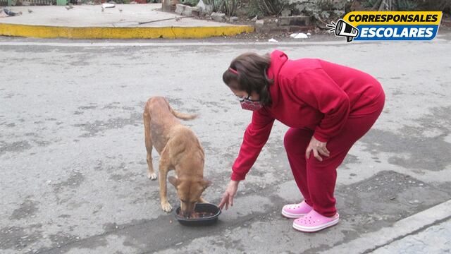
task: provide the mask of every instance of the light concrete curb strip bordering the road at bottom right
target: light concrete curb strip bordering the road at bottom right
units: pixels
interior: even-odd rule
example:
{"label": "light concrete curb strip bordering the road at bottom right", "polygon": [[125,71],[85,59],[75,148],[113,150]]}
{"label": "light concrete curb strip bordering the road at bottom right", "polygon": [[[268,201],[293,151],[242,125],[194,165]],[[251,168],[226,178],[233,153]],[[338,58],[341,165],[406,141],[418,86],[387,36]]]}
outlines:
{"label": "light concrete curb strip bordering the road at bottom right", "polygon": [[451,218],[451,200],[395,222],[392,226],[362,234],[359,238],[334,246],[323,253],[370,253],[405,236]]}

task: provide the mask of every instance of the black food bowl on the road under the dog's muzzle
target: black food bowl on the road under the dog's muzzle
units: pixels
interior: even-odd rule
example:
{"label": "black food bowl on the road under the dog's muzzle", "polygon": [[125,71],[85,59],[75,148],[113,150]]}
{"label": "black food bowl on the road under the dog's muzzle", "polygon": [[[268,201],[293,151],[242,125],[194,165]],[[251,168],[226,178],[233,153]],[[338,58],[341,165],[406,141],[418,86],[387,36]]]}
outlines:
{"label": "black food bowl on the road under the dog's muzzle", "polygon": [[185,218],[178,215],[180,213],[180,207],[178,207],[175,210],[175,219],[177,219],[180,224],[183,224],[185,226],[208,226],[218,222],[218,217],[219,214],[221,214],[221,209],[213,204],[202,203],[196,204],[196,207],[194,207],[194,212],[209,212],[213,215],[209,217]]}

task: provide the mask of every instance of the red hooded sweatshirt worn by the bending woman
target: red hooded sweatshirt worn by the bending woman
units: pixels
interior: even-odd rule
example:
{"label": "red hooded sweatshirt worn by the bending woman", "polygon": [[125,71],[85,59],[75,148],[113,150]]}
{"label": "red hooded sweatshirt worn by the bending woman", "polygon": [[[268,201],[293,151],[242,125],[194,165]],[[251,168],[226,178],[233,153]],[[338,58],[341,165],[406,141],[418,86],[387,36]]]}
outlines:
{"label": "red hooded sweatshirt worn by the bending woman", "polygon": [[340,133],[348,117],[378,110],[373,102],[383,93],[371,75],[321,59],[290,60],[278,50],[271,53],[268,78],[271,107],[252,114],[235,163],[232,180],[244,180],[266,144],[274,120],[292,128],[308,128],[327,142]]}

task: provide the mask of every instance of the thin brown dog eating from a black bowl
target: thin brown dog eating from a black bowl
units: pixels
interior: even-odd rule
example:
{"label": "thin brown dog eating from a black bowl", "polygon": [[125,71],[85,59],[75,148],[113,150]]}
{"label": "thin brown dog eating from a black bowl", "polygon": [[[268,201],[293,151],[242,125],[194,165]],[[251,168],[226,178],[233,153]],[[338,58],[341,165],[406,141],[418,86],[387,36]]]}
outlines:
{"label": "thin brown dog eating from a black bowl", "polygon": [[148,176],[151,180],[156,179],[152,165],[152,146],[160,155],[161,208],[165,212],[172,210],[166,195],[166,177],[168,171],[175,169],[177,178],[169,176],[168,180],[177,189],[182,214],[190,217],[196,203],[205,202],[201,195],[211,184],[210,181],[204,181],[204,149],[202,145],[190,128],[183,126],[178,121],[178,119],[194,119],[196,116],[173,110],[163,97],[151,97],[144,107],[143,118],[147,166],[149,167]]}

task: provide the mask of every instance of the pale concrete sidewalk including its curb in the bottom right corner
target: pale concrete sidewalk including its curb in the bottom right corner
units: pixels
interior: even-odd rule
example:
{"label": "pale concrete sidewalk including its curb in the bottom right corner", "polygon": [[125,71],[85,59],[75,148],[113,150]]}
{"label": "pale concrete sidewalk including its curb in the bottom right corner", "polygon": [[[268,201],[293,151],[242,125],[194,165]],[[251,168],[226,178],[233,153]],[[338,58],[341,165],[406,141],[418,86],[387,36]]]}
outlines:
{"label": "pale concrete sidewalk including its curb in the bottom right corner", "polygon": [[451,200],[395,222],[379,231],[362,234],[326,253],[450,253]]}

